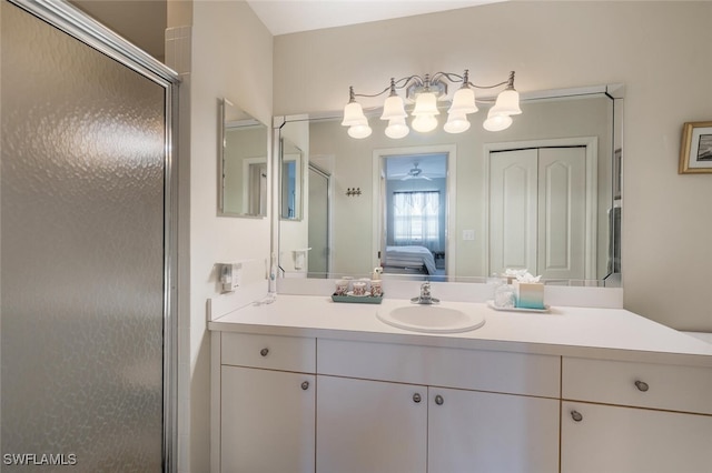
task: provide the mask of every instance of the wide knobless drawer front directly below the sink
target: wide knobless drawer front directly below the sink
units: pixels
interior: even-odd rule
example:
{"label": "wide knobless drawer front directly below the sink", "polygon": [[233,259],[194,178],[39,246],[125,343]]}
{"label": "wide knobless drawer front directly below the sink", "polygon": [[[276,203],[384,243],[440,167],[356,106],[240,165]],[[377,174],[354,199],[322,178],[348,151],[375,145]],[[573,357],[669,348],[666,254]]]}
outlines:
{"label": "wide knobless drawer front directly below the sink", "polygon": [[318,340],[318,374],[560,396],[561,358],[390,343]]}

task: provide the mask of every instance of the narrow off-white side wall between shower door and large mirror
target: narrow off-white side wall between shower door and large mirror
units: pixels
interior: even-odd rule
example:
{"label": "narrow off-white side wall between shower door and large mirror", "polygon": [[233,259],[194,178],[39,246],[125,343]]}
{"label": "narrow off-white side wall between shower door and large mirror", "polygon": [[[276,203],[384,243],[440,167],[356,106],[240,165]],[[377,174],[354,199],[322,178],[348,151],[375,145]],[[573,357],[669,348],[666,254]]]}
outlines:
{"label": "narrow off-white side wall between shower door and large mirror", "polygon": [[[206,301],[215,263],[269,256],[270,219],[217,214],[218,99],[271,123],[273,38],[244,1],[169,2],[167,63],[181,73],[181,288],[179,301],[179,471],[209,471],[210,338]],[[191,26],[191,29],[177,28]],[[174,29],[174,30],[171,30]],[[167,36],[169,38],[169,36]],[[185,192],[189,189],[189,195]],[[189,219],[188,218],[189,214]],[[187,219],[187,220],[186,220]],[[189,232],[189,240],[185,239]]]}

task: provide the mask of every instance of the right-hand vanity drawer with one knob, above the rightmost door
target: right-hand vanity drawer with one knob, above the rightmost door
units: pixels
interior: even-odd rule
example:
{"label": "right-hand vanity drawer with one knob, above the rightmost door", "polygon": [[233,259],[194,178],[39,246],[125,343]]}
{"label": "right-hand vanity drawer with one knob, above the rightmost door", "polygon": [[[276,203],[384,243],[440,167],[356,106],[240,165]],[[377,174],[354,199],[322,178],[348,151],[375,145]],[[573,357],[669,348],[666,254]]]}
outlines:
{"label": "right-hand vanity drawer with one knob, above the rightmost door", "polygon": [[564,358],[562,397],[712,414],[712,369]]}

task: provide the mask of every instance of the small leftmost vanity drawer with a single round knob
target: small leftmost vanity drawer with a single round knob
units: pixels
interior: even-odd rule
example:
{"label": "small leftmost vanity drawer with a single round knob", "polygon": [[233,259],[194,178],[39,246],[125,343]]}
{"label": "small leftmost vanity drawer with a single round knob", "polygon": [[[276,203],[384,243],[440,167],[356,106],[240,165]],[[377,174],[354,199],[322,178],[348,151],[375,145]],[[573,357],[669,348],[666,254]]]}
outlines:
{"label": "small leftmost vanity drawer with a single round knob", "polygon": [[222,332],[221,364],[316,372],[316,340]]}

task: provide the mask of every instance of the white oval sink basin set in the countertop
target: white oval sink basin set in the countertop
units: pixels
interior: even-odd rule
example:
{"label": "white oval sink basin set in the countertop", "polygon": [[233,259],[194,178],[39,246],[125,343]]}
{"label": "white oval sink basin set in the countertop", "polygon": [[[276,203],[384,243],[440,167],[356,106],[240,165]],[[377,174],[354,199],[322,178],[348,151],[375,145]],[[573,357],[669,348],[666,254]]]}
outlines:
{"label": "white oval sink basin set in the countertop", "polygon": [[441,305],[402,305],[378,310],[376,316],[388,325],[425,333],[458,333],[479,329],[484,315]]}

